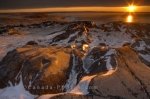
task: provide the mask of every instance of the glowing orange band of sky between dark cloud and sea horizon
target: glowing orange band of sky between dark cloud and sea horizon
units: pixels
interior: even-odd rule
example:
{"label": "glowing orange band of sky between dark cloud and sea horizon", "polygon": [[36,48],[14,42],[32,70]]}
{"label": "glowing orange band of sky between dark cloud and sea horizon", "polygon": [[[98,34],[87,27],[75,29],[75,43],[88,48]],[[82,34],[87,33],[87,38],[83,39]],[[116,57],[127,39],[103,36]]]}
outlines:
{"label": "glowing orange band of sky between dark cloud and sea horizon", "polygon": [[[127,12],[127,9],[125,7],[57,7],[57,8],[53,7],[53,8],[0,10],[0,13],[11,13],[11,12],[71,12],[71,11]],[[135,12],[150,12],[150,6],[138,6]]]}

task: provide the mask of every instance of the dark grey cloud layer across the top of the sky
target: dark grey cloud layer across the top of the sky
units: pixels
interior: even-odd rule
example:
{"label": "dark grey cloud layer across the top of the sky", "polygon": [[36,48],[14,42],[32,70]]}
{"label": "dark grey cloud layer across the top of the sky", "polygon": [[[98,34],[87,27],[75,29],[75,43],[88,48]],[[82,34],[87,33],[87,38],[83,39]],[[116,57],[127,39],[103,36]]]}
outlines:
{"label": "dark grey cloud layer across the top of the sky", "polygon": [[[150,5],[150,0],[135,0],[138,5]],[[72,7],[72,6],[126,6],[133,0],[0,0],[0,9]]]}

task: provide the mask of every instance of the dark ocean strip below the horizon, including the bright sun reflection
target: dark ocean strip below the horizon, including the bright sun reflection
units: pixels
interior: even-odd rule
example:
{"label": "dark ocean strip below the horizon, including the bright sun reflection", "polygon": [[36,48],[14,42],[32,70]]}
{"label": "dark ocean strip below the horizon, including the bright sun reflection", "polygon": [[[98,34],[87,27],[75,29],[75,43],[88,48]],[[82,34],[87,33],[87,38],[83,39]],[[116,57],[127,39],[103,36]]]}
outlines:
{"label": "dark ocean strip below the horizon, including the bright sun reflection", "polygon": [[0,14],[0,25],[39,23],[46,21],[94,21],[96,24],[113,21],[129,23],[150,23],[150,13],[116,12],[43,12],[43,13],[5,13]]}

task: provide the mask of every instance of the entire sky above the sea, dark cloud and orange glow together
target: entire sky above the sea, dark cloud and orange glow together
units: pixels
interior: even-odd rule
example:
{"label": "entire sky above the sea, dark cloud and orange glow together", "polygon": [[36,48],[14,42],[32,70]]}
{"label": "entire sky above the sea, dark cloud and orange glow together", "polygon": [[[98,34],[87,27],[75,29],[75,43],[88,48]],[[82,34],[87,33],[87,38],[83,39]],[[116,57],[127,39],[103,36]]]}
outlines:
{"label": "entire sky above the sea, dark cloud and orange glow together", "polygon": [[150,11],[150,0],[0,0],[0,11],[22,12],[30,9],[32,9],[30,11],[35,9],[39,11],[76,11],[80,9],[81,11],[118,11],[119,7],[127,6],[132,2],[137,6],[144,7],[145,11]]}

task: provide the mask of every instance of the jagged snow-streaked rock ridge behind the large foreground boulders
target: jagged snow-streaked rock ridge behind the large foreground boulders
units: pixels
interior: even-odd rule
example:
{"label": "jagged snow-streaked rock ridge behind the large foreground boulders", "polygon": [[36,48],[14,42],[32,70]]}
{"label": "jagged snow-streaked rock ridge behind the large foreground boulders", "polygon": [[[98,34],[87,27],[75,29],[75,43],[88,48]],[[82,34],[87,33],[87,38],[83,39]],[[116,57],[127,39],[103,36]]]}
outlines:
{"label": "jagged snow-streaked rock ridge behind the large foreground boulders", "polygon": [[[111,47],[120,47],[131,45],[134,39],[148,38],[149,31],[143,28],[145,25],[127,24],[124,22],[109,22],[99,26],[93,25],[90,21],[77,21],[66,23],[65,28],[61,31],[56,31],[49,35],[54,35],[50,38],[49,44],[60,46],[71,46],[75,44],[77,48],[81,48],[83,44],[98,46],[99,43],[106,43]],[[141,36],[139,32],[145,34]],[[141,33],[141,34],[142,34]]]}

